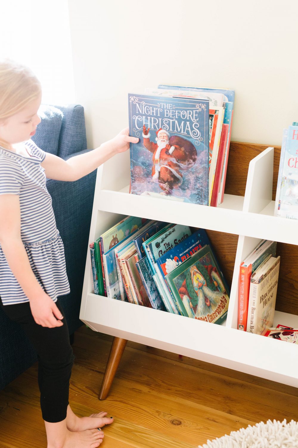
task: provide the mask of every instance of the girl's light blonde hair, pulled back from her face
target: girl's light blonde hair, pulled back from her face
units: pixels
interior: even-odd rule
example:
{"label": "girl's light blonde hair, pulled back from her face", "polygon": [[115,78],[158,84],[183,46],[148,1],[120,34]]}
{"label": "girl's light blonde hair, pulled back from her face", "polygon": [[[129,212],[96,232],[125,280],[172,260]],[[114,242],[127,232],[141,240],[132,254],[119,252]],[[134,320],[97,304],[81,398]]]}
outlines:
{"label": "girl's light blonde hair, pulled back from her face", "polygon": [[13,60],[0,61],[0,120],[20,112],[41,91],[31,69]]}

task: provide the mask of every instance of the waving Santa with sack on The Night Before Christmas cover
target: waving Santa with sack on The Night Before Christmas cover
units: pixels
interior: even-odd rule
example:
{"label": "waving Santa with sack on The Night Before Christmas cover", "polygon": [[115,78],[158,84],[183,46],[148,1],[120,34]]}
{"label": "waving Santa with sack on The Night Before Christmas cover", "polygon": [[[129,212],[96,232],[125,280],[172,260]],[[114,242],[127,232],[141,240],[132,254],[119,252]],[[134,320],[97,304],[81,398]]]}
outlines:
{"label": "waving Santa with sack on The Night Before Christmas cover", "polygon": [[176,135],[170,138],[162,128],[156,131],[156,143],[151,142],[149,130],[143,126],[143,144],[153,154],[152,180],[159,183],[163,194],[172,194],[182,184],[182,171],[195,164],[196,148],[185,138]]}

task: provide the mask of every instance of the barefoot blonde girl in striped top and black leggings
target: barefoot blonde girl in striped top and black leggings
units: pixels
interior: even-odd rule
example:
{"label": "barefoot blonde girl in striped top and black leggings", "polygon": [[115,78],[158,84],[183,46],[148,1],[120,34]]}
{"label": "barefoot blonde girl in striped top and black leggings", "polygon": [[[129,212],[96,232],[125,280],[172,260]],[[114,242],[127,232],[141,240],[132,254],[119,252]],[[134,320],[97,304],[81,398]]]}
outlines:
{"label": "barefoot blonde girl in striped top and black leggings", "polygon": [[75,181],[138,142],[123,129],[67,161],[31,140],[40,123],[41,86],[26,67],[0,62],[0,306],[38,353],[38,386],[48,448],[95,448],[112,423],[106,412],[78,418],[68,403],[74,356],[58,296],[69,293],[63,242],[46,177]]}

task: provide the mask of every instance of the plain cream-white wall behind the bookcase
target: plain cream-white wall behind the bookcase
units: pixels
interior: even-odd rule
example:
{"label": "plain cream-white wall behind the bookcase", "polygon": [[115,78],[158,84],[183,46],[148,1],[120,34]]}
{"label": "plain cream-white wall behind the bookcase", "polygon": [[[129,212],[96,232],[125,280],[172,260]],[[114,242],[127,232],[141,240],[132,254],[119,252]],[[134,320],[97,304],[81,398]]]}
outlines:
{"label": "plain cream-white wall behind the bookcase", "polygon": [[281,145],[298,121],[295,0],[69,0],[69,13],[89,147],[128,125],[127,93],[159,83],[235,89],[234,141]]}

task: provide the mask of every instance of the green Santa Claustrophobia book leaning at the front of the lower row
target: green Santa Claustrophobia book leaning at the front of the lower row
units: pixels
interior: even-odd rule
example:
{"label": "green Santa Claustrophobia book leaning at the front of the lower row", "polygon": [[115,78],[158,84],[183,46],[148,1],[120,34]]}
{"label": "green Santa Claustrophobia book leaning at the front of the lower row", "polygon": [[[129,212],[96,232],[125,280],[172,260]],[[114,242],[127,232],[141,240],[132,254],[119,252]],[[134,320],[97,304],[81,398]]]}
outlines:
{"label": "green Santa Claustrophobia book leaning at the front of the lower row", "polygon": [[187,258],[165,280],[184,316],[218,324],[226,319],[229,289],[209,245]]}

